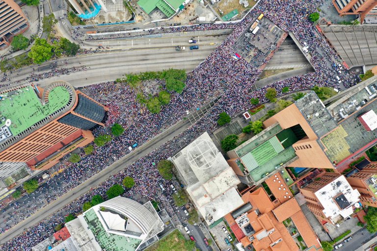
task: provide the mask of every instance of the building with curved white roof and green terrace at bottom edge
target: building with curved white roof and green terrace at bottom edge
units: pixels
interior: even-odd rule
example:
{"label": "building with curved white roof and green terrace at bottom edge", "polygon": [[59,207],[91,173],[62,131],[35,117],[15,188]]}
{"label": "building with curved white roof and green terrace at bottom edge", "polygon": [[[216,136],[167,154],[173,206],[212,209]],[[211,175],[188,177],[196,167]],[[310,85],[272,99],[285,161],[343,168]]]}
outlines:
{"label": "building with curved white roof and green terrace at bottom edge", "polygon": [[[61,233],[32,248],[35,251],[136,251],[159,240],[164,224],[148,201],[116,197],[65,224]],[[60,241],[62,240],[62,241]]]}

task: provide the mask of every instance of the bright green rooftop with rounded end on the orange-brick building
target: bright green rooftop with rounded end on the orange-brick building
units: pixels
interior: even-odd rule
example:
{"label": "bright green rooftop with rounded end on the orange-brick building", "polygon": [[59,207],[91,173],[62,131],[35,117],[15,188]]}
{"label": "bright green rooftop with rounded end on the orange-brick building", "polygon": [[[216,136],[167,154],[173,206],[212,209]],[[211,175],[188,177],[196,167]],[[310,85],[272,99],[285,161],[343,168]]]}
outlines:
{"label": "bright green rooftop with rounded end on the orange-brick building", "polygon": [[[20,91],[11,91],[0,100],[0,118],[4,117],[11,121],[9,126],[13,136],[16,136],[38,123],[44,118],[53,114],[55,111],[63,108],[69,102],[70,94],[62,86],[57,86],[49,93],[49,102],[42,105],[41,100],[36,95],[32,87],[19,89]],[[5,96],[1,94],[1,96]],[[5,121],[0,121],[3,126]]]}

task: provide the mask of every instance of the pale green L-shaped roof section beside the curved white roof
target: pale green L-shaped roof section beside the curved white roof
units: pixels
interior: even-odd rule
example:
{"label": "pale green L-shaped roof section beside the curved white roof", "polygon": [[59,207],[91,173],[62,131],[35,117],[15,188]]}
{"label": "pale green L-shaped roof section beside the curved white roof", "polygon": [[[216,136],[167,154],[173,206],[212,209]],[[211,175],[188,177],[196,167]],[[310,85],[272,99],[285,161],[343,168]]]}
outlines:
{"label": "pale green L-shaped roof section beside the curved white roof", "polygon": [[135,251],[141,242],[139,239],[106,232],[93,208],[85,212],[84,219],[103,250]]}

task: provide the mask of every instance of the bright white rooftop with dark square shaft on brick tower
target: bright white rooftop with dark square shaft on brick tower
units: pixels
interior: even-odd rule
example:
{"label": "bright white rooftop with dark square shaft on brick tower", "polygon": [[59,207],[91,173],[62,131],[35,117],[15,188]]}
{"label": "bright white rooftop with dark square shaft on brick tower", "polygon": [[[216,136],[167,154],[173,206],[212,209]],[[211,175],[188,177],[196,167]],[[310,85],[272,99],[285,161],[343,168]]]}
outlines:
{"label": "bright white rooftop with dark square shaft on brick tower", "polygon": [[315,192],[315,195],[322,204],[326,217],[341,215],[346,218],[352,214],[353,210],[350,208],[359,201],[360,193],[342,175]]}

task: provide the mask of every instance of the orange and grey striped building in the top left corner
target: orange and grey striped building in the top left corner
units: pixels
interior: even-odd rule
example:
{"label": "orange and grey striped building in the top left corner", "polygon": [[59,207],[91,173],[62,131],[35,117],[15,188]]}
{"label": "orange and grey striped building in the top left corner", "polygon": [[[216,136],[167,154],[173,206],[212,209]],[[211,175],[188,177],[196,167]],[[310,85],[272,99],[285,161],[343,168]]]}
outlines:
{"label": "orange and grey striped building in the top left corner", "polygon": [[13,36],[29,27],[25,14],[13,0],[0,0],[0,50],[9,46]]}

